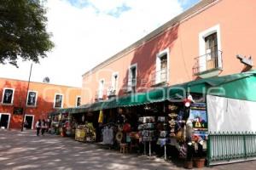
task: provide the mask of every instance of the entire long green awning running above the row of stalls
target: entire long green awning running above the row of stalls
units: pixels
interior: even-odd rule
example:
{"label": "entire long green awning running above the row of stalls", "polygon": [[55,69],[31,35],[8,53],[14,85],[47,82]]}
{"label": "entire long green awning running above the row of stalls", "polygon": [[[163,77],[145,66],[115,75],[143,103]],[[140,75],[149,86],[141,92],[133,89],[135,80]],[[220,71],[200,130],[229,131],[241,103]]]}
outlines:
{"label": "entire long green awning running above the row of stalls", "polygon": [[71,114],[88,111],[100,111],[118,107],[146,105],[162,102],[166,99],[183,99],[187,92],[198,94],[212,94],[231,99],[244,99],[256,101],[256,71],[200,79],[171,87],[160,87],[145,93],[129,94],[127,96],[99,101],[89,105],[61,109],[57,112]]}

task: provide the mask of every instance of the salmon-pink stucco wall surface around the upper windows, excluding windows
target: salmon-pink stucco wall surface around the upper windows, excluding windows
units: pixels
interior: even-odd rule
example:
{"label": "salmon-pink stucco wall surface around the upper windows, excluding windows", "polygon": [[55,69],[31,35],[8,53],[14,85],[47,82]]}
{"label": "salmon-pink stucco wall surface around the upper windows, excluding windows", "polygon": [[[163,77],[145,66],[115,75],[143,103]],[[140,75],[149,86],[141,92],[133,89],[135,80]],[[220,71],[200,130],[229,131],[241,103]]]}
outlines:
{"label": "salmon-pink stucco wall surface around the upper windows, excluding windows", "polygon": [[[219,0],[218,3],[183,20],[176,26],[126,53],[124,57],[104,66],[99,71],[84,75],[82,103],[94,102],[100,79],[104,88],[110,86],[113,72],[119,72],[119,88],[127,85],[128,68],[137,63],[137,90],[151,88],[151,75],[155,71],[156,54],[169,48],[169,85],[188,82],[193,75],[195,57],[199,56],[199,34],[212,26],[220,27],[223,71],[219,76],[238,73],[244,68],[236,54],[251,55],[255,60],[256,1]],[[255,67],[253,67],[255,69]],[[123,90],[119,91],[119,95]]]}

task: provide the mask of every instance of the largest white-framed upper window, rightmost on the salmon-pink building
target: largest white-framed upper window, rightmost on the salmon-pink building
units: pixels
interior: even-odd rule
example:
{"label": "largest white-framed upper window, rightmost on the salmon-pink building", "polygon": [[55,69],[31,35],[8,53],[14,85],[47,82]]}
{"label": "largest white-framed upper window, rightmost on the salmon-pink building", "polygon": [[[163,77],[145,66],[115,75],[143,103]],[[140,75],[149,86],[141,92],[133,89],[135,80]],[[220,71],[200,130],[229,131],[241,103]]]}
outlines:
{"label": "largest white-framed upper window, rightmost on the salmon-pink building", "polygon": [[199,45],[198,72],[222,68],[219,25],[202,31],[199,34]]}

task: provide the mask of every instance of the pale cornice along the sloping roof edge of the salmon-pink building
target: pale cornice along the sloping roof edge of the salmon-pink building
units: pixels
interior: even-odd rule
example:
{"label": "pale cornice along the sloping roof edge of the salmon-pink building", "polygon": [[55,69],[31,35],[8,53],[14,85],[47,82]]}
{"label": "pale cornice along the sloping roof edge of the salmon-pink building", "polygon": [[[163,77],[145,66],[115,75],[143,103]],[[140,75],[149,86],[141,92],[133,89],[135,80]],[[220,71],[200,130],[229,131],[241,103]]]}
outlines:
{"label": "pale cornice along the sloping roof edge of the salmon-pink building", "polygon": [[175,26],[178,22],[181,22],[182,20],[188,18],[192,14],[195,14],[196,12],[201,10],[202,8],[206,8],[208,5],[210,5],[212,3],[215,3],[215,2],[218,2],[218,1],[221,1],[221,0],[201,0],[199,3],[196,3],[193,7],[185,10],[181,14],[178,14],[172,20],[167,21],[164,25],[160,26],[159,28],[155,29],[154,31],[151,31],[150,33],[148,33],[148,35],[139,39],[137,42],[132,43],[127,48],[119,51],[119,53],[114,54],[112,57],[104,60],[99,65],[96,65],[95,67],[90,69],[90,71],[86,71],[82,75],[82,77],[84,77],[84,76],[86,76],[86,75],[88,75],[88,74],[90,74],[94,71],[97,71],[97,70],[101,69],[103,66],[108,65],[109,63],[111,63],[112,61],[114,61],[116,59],[122,58],[125,54],[127,54],[127,53],[131,52],[132,50],[134,50],[135,48],[138,48],[139,46],[143,45],[144,42],[148,42],[149,40],[153,39],[154,37],[159,36],[161,33],[166,31],[168,28],[170,28],[172,26]]}

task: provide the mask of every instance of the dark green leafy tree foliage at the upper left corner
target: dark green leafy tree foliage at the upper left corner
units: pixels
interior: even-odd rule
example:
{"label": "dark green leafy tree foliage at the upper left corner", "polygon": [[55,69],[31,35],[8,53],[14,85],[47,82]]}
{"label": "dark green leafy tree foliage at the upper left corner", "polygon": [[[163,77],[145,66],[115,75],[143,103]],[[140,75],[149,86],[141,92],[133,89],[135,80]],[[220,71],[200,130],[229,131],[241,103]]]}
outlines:
{"label": "dark green leafy tree foliage at the upper left corner", "polygon": [[17,65],[17,59],[39,62],[54,47],[46,31],[46,9],[40,0],[1,0],[0,63]]}

